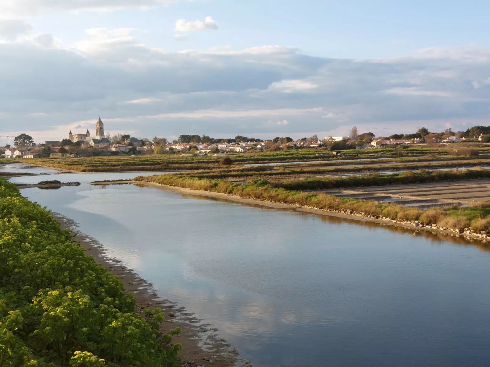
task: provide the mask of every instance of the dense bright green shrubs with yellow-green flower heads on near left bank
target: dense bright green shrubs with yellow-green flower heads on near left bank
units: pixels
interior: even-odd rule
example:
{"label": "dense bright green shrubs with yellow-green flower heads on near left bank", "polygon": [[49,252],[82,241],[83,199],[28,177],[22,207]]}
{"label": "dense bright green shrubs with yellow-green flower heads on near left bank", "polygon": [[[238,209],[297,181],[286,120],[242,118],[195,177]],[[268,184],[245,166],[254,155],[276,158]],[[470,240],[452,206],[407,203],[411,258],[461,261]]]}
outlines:
{"label": "dense bright green shrubs with yellow-green flower heads on near left bank", "polygon": [[179,366],[160,309],[134,313],[123,284],[70,231],[0,179],[0,366]]}

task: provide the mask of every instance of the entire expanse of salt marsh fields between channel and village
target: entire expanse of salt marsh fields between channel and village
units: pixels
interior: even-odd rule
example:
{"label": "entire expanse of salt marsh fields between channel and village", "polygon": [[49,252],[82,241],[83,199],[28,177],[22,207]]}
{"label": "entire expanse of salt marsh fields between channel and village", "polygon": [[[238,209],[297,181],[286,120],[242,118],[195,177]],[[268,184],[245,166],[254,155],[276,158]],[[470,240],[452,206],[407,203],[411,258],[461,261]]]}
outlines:
{"label": "entire expanse of salt marsh fields between channel and village", "polygon": [[[485,169],[490,167],[490,147],[476,145],[478,150],[464,144],[353,149],[342,156],[323,148],[248,152],[227,155],[231,162],[226,165],[220,156],[177,154],[27,162],[76,172],[175,171],[137,180],[430,224],[442,221],[458,229],[472,227],[473,206],[479,203],[477,219],[483,222],[474,226],[490,230],[482,209],[490,201],[490,170]],[[471,206],[471,214],[451,211],[457,206]],[[440,212],[428,220],[426,209],[431,208]]]}

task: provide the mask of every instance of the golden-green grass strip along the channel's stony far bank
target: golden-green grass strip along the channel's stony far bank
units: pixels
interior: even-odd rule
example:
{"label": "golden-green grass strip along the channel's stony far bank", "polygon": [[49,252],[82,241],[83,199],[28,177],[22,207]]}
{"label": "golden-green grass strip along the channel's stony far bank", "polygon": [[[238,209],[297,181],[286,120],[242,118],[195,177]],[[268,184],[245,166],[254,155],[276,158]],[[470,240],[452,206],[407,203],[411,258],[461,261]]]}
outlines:
{"label": "golden-green grass strip along the channel's stony far bank", "polygon": [[[481,171],[474,171],[480,173]],[[446,172],[446,178],[461,178],[459,173],[454,175]],[[484,171],[490,177],[490,171]],[[401,180],[406,178],[427,177],[426,173],[406,173]],[[466,173],[471,175],[471,173]],[[443,176],[444,177],[444,176]],[[373,178],[364,177],[367,180]],[[357,178],[356,178],[357,179]],[[342,179],[340,179],[342,180]],[[480,203],[478,207],[450,208],[450,209],[418,209],[396,204],[379,203],[372,200],[359,200],[353,198],[337,198],[325,193],[309,193],[293,190],[287,186],[293,184],[270,183],[264,179],[254,179],[249,183],[230,183],[221,180],[200,179],[190,176],[154,175],[139,176],[134,181],[151,182],[175,187],[189,188],[192,190],[204,190],[235,195],[243,198],[265,200],[275,203],[290,204],[295,206],[307,206],[328,211],[358,214],[374,218],[390,219],[405,224],[419,226],[437,226],[440,229],[461,232],[463,230],[487,231],[490,229],[490,204]],[[347,181],[345,181],[347,182]],[[387,183],[388,181],[384,181]],[[393,182],[393,181],[392,181]],[[371,181],[374,184],[374,181]],[[407,181],[408,183],[408,181]],[[282,185],[282,187],[281,187]],[[301,185],[299,185],[301,186]],[[485,233],[479,233],[486,235]]]}

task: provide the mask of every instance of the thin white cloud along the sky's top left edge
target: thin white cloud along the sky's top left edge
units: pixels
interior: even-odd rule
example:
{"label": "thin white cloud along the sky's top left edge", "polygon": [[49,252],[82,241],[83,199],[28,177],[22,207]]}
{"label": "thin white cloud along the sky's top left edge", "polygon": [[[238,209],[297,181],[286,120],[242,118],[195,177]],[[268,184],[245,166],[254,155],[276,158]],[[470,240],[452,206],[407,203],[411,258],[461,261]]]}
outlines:
{"label": "thin white cloud along the sky's top left edge", "polygon": [[177,0],[1,0],[0,14],[4,17],[22,17],[65,11],[110,12],[127,8],[146,9],[175,2]]}

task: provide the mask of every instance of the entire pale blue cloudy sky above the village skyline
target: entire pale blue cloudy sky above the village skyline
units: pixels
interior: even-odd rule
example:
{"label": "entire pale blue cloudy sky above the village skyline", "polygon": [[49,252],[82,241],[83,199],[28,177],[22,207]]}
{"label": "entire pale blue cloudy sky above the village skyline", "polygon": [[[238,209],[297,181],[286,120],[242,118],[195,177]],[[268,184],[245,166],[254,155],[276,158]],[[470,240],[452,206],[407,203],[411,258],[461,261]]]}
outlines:
{"label": "entire pale blue cloudy sky above the village skyline", "polygon": [[490,125],[489,1],[1,0],[0,145]]}

